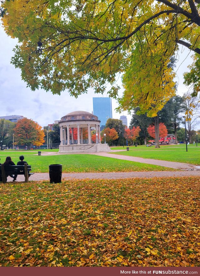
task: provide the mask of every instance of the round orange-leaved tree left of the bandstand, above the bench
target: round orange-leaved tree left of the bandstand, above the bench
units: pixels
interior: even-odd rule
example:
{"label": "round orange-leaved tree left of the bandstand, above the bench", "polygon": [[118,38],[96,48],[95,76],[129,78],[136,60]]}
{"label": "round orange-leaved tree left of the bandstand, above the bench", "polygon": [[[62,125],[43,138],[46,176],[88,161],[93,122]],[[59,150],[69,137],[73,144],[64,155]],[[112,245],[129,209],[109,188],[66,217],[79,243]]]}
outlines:
{"label": "round orange-leaved tree left of the bandstand, above the bench", "polygon": [[42,127],[31,119],[23,118],[19,120],[14,128],[15,144],[40,146],[44,141],[44,131]]}

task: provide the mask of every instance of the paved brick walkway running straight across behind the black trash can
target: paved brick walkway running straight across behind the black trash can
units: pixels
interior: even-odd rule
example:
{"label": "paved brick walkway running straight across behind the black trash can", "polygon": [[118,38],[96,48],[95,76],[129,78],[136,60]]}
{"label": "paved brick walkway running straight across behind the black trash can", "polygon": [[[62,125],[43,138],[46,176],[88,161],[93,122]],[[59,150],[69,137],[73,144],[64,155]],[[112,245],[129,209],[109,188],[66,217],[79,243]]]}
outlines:
{"label": "paved brick walkway running straight across behind the black trash can", "polygon": [[[128,172],[128,173],[63,173],[62,179],[123,179],[123,178],[152,178],[152,177],[184,177],[200,176],[200,170],[196,171],[158,171],[158,172]],[[49,180],[48,173],[35,173],[31,175],[29,181]],[[8,176],[8,181],[12,178]],[[23,175],[17,176],[17,181],[24,181]]]}

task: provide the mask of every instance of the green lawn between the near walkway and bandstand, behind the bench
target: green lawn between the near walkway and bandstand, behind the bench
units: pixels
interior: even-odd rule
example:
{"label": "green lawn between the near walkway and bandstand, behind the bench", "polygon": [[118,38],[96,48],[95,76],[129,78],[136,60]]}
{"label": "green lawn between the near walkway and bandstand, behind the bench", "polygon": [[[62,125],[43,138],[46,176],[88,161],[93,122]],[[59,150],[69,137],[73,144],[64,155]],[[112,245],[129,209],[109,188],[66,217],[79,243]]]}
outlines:
{"label": "green lawn between the near walkway and bandstand, behind the bench", "polygon": [[[9,155],[8,155],[9,154]],[[11,156],[12,161],[17,164],[19,156],[24,154],[25,161],[32,165],[32,172],[48,172],[48,165],[62,164],[63,172],[129,172],[129,171],[162,171],[173,170],[156,165],[119,160],[109,157],[102,157],[92,154],[66,154],[38,156],[35,152],[7,152],[0,151],[1,163],[5,162],[6,156]]]}

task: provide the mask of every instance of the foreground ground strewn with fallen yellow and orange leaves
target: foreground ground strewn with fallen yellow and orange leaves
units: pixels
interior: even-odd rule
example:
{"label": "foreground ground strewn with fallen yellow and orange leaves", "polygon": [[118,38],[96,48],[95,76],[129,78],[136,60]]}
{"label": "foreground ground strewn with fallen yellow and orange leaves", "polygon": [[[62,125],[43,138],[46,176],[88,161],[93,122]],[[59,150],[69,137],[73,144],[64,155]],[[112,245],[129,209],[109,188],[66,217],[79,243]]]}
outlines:
{"label": "foreground ground strewn with fallen yellow and orange leaves", "polygon": [[198,266],[198,178],[0,186],[2,266]]}

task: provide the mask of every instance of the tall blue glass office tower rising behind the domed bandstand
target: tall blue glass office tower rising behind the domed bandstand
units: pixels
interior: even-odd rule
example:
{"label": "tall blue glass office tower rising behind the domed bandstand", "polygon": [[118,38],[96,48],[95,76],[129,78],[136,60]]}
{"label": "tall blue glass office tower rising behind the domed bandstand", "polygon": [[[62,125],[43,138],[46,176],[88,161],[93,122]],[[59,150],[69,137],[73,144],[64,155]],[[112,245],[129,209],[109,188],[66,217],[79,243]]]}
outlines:
{"label": "tall blue glass office tower rising behind the domed bandstand", "polygon": [[101,121],[100,129],[102,130],[106,125],[106,121],[113,118],[111,98],[93,98],[93,113]]}

